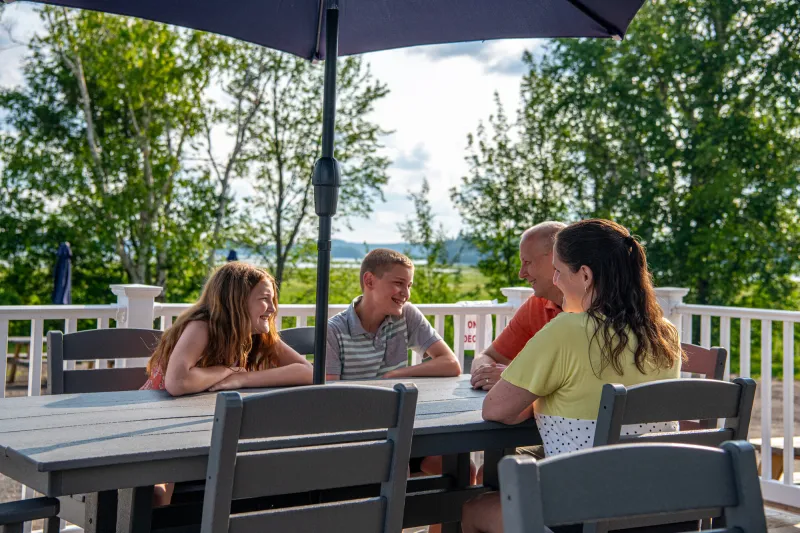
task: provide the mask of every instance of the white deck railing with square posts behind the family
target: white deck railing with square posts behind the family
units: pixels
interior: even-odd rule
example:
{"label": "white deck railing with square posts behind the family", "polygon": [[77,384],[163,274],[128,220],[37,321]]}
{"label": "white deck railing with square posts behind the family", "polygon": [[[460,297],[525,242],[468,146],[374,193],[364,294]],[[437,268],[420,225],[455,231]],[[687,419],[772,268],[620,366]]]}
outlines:
{"label": "white deck railing with square posts behind the family", "polygon": [[[89,320],[88,325],[82,322],[82,329],[86,329],[87,326],[107,328],[113,325],[115,327],[158,327],[164,330],[173,323],[175,317],[189,307],[189,304],[156,302],[155,298],[161,293],[160,287],[114,285],[112,291],[117,295],[117,302],[110,305],[0,306],[0,349],[4,350],[4,353],[9,353],[9,326],[12,323],[27,322],[26,330],[28,327],[30,328],[30,336],[27,337],[29,354],[27,393],[29,395],[41,394],[42,362],[46,355],[45,341],[48,329],[60,329],[64,332],[77,331],[79,320]],[[476,351],[480,352],[503,330],[516,309],[532,294],[532,290],[524,288],[503,289],[502,292],[506,296],[507,302],[480,304],[473,302],[469,306],[420,304],[418,307],[432,320],[434,328],[442,337],[450,338],[452,332],[453,351],[458,355],[462,367],[464,367],[468,317],[474,317],[476,322],[477,328],[471,331],[475,333]],[[763,446],[761,453],[762,489],[765,500],[800,507],[800,487],[793,484],[794,447],[792,445],[795,402],[794,324],[800,322],[800,312],[685,304],[683,298],[688,293],[686,289],[661,288],[657,289],[657,293],[665,315],[679,328],[681,339],[684,342],[694,341],[705,347],[722,346],[730,354],[731,335],[738,329],[740,354],[738,374],[740,376],[750,376],[751,361],[755,359],[755,356],[770,354],[769,357],[760,357],[761,434],[759,436]],[[331,305],[329,316],[346,307],[343,304]],[[279,324],[284,327],[306,326],[310,323],[309,319],[313,319],[314,313],[315,306],[313,305],[282,304],[279,309]],[[48,323],[46,324],[45,321]],[[761,333],[760,350],[756,350],[755,353],[751,346],[753,321],[760,322]],[[698,334],[695,334],[695,323],[699,324]],[[783,481],[771,479],[770,437],[773,436],[773,423],[776,420],[771,416],[772,361],[774,360],[772,357],[774,353],[773,323],[781,323],[783,332],[782,343],[778,343],[782,347],[779,352],[785,378],[783,380],[783,410],[780,413],[784,422],[782,432]],[[717,333],[716,336],[712,335],[714,332]],[[419,360],[419,354],[415,354],[415,360]],[[0,369],[3,370],[3,376],[6,373],[6,364],[7,358],[0,358]],[[465,372],[469,371],[468,368],[464,368],[464,370]],[[730,357],[728,358],[726,377],[729,373]],[[0,382],[0,392],[5,395],[5,379]]]}

